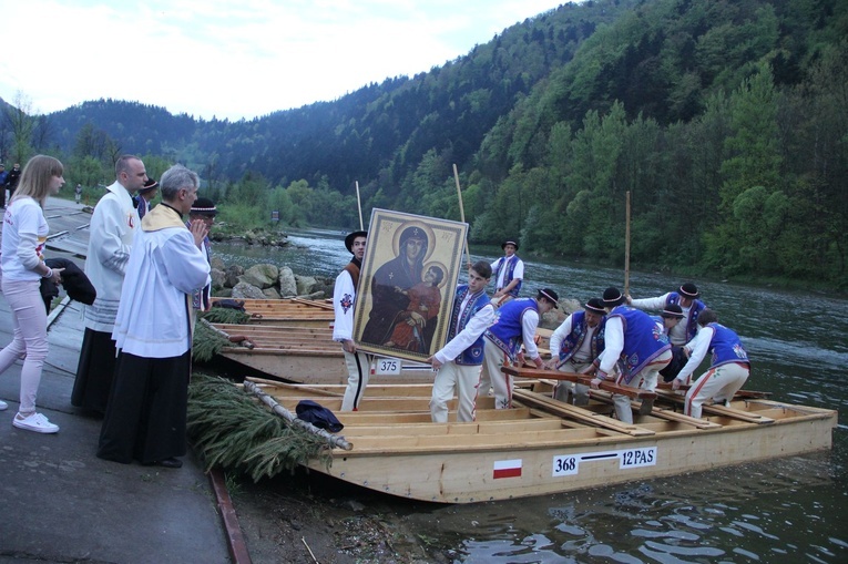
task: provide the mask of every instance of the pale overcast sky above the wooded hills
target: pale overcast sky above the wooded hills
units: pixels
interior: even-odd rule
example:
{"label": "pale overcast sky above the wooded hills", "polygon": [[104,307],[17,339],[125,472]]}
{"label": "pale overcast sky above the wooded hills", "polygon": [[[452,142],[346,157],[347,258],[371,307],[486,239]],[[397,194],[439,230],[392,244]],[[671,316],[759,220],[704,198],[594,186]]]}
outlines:
{"label": "pale overcast sky above the wooded hills", "polygon": [[468,53],[553,0],[0,0],[0,98],[239,120]]}

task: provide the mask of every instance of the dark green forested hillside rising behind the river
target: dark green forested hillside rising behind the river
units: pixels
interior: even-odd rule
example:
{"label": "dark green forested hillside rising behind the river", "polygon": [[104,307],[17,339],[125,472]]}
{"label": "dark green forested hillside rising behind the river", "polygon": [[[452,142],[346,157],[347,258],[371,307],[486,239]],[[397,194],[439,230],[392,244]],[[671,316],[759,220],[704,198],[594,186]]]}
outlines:
{"label": "dark green forested hillside rising behind the river", "polygon": [[[241,214],[358,225],[392,208],[472,242],[848,289],[848,2],[564,4],[466,55],[241,122],[94,101],[39,116],[84,182],[115,153],[180,161]],[[245,95],[249,95],[246,93]],[[43,147],[33,148],[43,150]]]}

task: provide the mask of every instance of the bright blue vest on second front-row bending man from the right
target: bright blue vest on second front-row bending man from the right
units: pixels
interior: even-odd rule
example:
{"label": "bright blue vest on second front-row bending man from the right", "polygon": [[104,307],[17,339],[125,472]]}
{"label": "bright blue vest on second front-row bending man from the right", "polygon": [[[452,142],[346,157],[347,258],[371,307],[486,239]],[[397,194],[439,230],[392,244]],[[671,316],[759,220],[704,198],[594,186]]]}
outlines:
{"label": "bright blue vest on second front-row bending man from the right", "polygon": [[631,306],[619,306],[607,316],[607,320],[620,317],[624,329],[624,349],[619,361],[624,381],[630,383],[645,366],[671,349],[668,336],[662,327],[644,311]]}

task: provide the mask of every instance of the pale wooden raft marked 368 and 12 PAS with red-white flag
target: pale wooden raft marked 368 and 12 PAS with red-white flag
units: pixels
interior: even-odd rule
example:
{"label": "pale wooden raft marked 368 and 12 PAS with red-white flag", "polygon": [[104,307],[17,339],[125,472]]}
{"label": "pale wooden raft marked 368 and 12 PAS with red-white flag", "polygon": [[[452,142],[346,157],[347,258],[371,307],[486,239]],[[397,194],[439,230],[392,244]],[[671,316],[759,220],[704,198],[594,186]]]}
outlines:
{"label": "pale wooden raft marked 368 and 12 PAS with red-white flag", "polygon": [[[775,420],[692,420],[655,409],[636,424],[613,420],[543,393],[515,390],[514,409],[480,398],[477,420],[430,419],[431,384],[369,386],[359,411],[340,412],[344,386],[257,382],[287,410],[311,399],[336,413],[351,450],[314,471],[377,492],[440,503],[508,500],[595,488],[830,448],[836,412],[756,400],[739,411]],[[530,380],[523,383],[537,386]],[[594,390],[596,394],[607,394]],[[668,416],[667,418],[665,416]]]}

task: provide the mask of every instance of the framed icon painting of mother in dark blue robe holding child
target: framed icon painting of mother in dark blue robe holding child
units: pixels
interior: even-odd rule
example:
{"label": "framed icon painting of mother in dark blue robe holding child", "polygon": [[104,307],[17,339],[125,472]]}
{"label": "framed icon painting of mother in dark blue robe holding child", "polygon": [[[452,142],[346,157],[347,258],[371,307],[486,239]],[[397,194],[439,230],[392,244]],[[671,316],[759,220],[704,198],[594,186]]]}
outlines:
{"label": "framed icon painting of mother in dark blue robe holding child", "polygon": [[445,345],[468,225],[375,209],[354,315],[359,349],[423,361]]}

